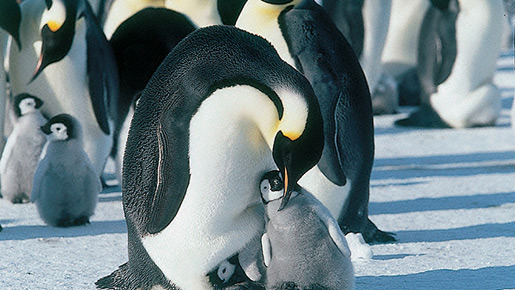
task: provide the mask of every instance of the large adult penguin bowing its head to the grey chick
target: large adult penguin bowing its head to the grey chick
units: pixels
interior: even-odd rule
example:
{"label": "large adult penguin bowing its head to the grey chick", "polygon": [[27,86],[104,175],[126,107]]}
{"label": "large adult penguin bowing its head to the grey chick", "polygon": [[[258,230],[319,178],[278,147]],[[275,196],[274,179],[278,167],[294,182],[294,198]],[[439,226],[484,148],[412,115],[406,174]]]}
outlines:
{"label": "large adult penguin bowing its head to the grey chick", "polygon": [[261,176],[281,171],[286,205],[320,158],[322,127],[309,82],[266,40],[232,26],[191,33],[136,107],[122,181],[129,261],[97,287],[210,289],[207,274],[262,234]]}

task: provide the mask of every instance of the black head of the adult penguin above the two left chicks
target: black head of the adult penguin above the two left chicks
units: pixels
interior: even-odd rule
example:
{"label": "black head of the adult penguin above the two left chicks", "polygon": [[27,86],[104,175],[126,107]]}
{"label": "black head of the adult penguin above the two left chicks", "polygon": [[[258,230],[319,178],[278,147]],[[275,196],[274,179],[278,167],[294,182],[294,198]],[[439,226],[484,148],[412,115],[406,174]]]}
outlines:
{"label": "black head of the adult penguin above the two left chicks", "polygon": [[[48,10],[52,8],[54,1],[56,0],[45,0]],[[48,65],[62,60],[72,47],[79,3],[77,0],[62,3],[66,10],[64,22],[58,24],[50,20],[41,28],[41,53],[31,81],[36,79]]]}

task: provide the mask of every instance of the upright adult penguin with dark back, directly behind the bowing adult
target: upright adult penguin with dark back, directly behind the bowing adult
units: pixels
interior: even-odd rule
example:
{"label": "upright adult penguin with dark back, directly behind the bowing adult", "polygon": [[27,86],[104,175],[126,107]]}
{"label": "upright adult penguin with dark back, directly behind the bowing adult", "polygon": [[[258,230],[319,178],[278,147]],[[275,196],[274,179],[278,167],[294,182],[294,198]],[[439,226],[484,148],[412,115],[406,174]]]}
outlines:
{"label": "upright adult penguin with dark back, directly behind the bowing adult", "polygon": [[370,93],[358,59],[313,0],[249,0],[236,26],[268,39],[310,81],[324,117],[318,166],[299,184],[329,208],[344,233],[367,242],[395,240],[368,219],[374,126]]}

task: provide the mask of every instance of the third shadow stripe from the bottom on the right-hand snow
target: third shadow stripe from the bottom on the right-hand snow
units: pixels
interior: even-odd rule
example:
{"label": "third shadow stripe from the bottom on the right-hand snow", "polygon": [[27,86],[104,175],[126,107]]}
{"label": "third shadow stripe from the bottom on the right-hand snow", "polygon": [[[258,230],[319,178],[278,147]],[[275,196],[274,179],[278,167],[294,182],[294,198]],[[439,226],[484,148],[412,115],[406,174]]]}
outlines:
{"label": "third shadow stripe from the bottom on the right-hand snow", "polygon": [[437,210],[491,208],[506,203],[515,203],[515,192],[370,202],[368,208],[373,214],[402,214]]}

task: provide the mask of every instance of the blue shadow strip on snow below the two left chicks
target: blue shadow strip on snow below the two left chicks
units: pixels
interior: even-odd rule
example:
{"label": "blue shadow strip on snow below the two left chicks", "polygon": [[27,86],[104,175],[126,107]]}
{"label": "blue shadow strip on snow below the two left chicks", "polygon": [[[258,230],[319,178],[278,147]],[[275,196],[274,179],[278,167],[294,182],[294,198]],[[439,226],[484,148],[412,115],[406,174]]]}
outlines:
{"label": "blue shadow strip on snow below the two left chicks", "polygon": [[41,239],[41,241],[45,241],[52,238],[75,238],[125,233],[127,233],[125,220],[92,221],[91,224],[69,228],[57,228],[47,225],[20,225],[4,227],[0,235],[0,241],[22,241],[30,239]]}

